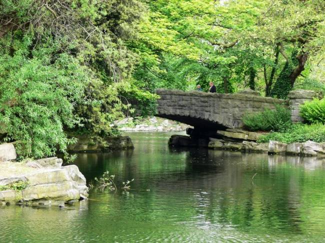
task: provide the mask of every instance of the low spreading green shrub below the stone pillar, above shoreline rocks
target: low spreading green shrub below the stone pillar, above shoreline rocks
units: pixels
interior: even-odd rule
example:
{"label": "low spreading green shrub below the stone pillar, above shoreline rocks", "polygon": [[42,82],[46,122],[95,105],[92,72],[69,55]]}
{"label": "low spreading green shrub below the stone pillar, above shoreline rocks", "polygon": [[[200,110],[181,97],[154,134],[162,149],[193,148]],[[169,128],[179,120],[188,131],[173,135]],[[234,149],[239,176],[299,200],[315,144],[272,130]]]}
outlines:
{"label": "low spreading green shrub below the stone pillar, above shoreline rocks", "polygon": [[285,143],[305,142],[307,140],[325,142],[325,125],[321,123],[311,125],[296,123],[285,132],[271,132],[263,135],[258,139],[258,142],[268,142],[269,140]]}

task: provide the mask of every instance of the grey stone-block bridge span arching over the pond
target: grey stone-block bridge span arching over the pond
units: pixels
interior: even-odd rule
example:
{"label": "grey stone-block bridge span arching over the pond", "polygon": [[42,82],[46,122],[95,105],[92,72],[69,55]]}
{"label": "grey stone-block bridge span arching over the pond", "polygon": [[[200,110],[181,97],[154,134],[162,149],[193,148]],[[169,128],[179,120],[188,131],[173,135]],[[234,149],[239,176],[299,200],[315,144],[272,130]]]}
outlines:
{"label": "grey stone-block bridge span arching over the pond", "polygon": [[177,120],[197,128],[241,128],[244,113],[288,107],[288,100],[244,93],[206,93],[157,89],[157,116]]}

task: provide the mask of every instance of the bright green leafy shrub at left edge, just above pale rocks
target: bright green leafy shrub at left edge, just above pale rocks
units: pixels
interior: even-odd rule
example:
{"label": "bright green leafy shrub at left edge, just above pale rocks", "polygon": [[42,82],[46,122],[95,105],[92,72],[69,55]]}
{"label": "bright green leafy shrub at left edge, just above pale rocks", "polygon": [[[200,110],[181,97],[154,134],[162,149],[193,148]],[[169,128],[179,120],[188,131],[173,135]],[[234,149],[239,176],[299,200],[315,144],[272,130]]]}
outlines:
{"label": "bright green leafy shrub at left edge, just above pale rocks", "polygon": [[[19,53],[0,57],[0,120],[7,129],[6,140],[18,140],[22,156],[64,152],[73,140],[63,132],[80,119],[73,103],[80,103],[87,73],[68,55],[60,54],[53,64],[27,59]],[[79,81],[75,81],[79,80]]]}

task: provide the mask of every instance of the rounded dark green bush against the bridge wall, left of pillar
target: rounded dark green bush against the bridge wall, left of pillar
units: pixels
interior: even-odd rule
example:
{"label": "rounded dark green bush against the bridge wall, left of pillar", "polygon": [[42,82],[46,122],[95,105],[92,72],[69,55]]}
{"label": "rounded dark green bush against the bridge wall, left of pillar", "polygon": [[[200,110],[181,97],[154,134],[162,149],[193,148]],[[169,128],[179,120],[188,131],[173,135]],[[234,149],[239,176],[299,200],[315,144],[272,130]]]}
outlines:
{"label": "rounded dark green bush against the bridge wall, left of pillar", "polygon": [[291,114],[285,107],[276,105],[275,110],[264,109],[261,112],[245,114],[242,121],[248,130],[281,131],[291,126]]}

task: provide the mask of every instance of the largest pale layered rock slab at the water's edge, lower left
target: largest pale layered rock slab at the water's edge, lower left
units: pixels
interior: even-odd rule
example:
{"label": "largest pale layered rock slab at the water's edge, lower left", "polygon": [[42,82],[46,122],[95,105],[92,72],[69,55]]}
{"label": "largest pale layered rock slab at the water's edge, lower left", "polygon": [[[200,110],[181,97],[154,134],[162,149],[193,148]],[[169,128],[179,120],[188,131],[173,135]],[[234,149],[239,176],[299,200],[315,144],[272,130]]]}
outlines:
{"label": "largest pale layered rock slab at the water's edge, lower left", "polygon": [[25,204],[47,201],[50,204],[51,201],[68,202],[88,196],[85,177],[76,165],[35,171],[23,176],[1,178],[1,185],[23,180],[27,186],[22,190],[0,191],[0,201],[13,203],[22,201]]}

